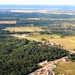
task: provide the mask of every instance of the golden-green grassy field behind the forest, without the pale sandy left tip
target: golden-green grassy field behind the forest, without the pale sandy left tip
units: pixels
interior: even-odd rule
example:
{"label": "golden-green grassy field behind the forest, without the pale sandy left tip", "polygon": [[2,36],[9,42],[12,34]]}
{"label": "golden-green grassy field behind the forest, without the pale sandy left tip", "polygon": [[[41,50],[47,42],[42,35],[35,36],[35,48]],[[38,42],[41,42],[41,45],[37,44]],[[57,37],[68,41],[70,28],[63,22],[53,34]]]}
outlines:
{"label": "golden-green grassy field behind the forest, without the pale sandy left tip", "polygon": [[63,45],[63,47],[67,50],[73,50],[75,49],[75,36],[73,37],[65,37],[61,38],[58,35],[32,35],[31,38],[41,40],[42,38],[45,38],[51,42],[55,42],[57,44]]}

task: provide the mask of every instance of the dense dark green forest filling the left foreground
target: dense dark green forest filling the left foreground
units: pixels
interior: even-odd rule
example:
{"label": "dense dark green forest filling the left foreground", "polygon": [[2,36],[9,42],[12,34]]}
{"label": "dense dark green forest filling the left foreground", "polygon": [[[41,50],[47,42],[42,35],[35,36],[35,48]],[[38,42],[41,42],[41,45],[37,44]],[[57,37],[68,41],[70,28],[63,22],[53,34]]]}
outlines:
{"label": "dense dark green forest filling the left foreground", "polygon": [[68,54],[59,46],[0,36],[0,75],[28,75],[40,68],[39,62],[52,61]]}

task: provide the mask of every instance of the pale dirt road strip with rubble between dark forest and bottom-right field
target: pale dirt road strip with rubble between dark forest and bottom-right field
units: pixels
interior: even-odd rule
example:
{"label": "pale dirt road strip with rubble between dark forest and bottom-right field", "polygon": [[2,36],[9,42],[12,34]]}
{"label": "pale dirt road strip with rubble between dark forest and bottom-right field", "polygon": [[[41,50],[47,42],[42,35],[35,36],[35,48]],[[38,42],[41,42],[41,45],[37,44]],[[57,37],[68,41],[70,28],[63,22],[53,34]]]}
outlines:
{"label": "pale dirt road strip with rubble between dark forest and bottom-right field", "polygon": [[56,68],[56,65],[54,64],[57,64],[59,61],[63,60],[63,58],[50,61],[47,64],[43,65],[42,68],[30,73],[29,75],[46,75],[48,71],[52,72],[52,75],[55,75],[53,70]]}

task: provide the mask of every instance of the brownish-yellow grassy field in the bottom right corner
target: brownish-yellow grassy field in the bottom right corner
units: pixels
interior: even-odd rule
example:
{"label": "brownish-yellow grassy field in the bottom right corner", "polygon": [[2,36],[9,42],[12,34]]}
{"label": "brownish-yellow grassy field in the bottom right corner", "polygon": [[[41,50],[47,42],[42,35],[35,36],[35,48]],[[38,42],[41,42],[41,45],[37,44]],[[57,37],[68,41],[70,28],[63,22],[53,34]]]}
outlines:
{"label": "brownish-yellow grassy field in the bottom right corner", "polygon": [[75,75],[75,62],[60,61],[54,72],[55,75]]}

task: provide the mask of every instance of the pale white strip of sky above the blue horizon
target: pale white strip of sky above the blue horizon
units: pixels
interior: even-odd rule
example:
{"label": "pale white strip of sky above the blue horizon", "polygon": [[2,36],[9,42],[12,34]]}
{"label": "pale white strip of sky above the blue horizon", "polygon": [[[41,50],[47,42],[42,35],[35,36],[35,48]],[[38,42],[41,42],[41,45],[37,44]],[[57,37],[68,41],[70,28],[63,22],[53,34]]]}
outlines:
{"label": "pale white strip of sky above the blue horizon", "polygon": [[75,5],[75,0],[0,0],[1,4],[14,5]]}

